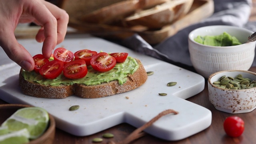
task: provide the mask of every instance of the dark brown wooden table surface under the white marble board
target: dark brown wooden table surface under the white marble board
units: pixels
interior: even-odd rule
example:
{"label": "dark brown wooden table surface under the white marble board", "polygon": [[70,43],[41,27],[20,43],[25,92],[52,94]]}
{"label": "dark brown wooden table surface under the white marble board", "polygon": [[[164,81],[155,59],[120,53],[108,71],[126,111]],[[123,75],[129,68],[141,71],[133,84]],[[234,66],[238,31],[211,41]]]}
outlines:
{"label": "dark brown wooden table surface under the white marble board", "polygon": [[[256,0],[252,0],[252,2],[253,7],[256,7]],[[252,8],[250,20],[256,20],[256,8]],[[256,67],[250,68],[250,71],[256,72]],[[150,134],[146,134],[145,136],[134,140],[131,144],[254,144],[256,142],[256,110],[244,114],[228,114],[216,110],[208,98],[207,82],[202,92],[188,98],[187,100],[200,106],[204,106],[212,112],[212,124],[210,127],[179,141],[166,141],[151,136]],[[0,104],[6,103],[7,102],[0,100]],[[239,116],[244,120],[245,130],[242,136],[238,138],[231,138],[225,134],[223,122],[228,116]],[[114,134],[114,138],[104,139],[103,142],[107,142],[109,140],[118,142],[126,138],[135,129],[135,127],[124,123],[90,136],[73,136],[56,128],[54,144],[95,144],[92,142],[92,139],[102,137],[102,134],[106,132]]]}

